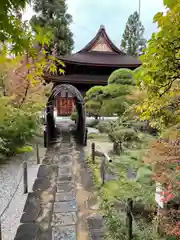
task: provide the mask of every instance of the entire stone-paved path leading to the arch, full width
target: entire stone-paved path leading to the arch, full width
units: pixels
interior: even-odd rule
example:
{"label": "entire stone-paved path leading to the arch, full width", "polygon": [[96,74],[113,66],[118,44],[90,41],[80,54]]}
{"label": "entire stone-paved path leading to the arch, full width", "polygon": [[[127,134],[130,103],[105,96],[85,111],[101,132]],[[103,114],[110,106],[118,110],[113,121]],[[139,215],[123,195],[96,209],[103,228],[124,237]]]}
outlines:
{"label": "entire stone-paved path leading to the arch, full width", "polygon": [[103,239],[102,219],[88,204],[93,188],[84,150],[61,131],[39,167],[14,240]]}

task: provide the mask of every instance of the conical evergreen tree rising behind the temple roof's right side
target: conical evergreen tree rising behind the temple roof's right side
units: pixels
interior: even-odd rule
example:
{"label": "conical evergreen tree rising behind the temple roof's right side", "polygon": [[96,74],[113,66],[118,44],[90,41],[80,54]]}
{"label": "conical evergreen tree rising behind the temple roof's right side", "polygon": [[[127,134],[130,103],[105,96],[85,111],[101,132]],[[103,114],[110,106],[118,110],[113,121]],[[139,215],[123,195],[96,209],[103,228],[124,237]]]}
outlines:
{"label": "conical evergreen tree rising behind the temple roof's right side", "polygon": [[142,49],[146,45],[143,37],[144,26],[139,21],[139,14],[134,12],[128,18],[121,40],[121,49],[130,56],[141,55]]}

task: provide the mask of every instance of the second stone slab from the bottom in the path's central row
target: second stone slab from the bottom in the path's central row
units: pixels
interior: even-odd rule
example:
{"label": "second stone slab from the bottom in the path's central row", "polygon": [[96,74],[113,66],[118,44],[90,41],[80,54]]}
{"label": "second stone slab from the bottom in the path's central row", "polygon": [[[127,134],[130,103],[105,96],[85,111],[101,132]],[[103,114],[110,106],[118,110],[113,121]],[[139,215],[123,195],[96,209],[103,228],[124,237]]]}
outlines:
{"label": "second stone slab from the bottom in the path's central row", "polygon": [[74,225],[76,224],[77,216],[76,213],[54,213],[53,216],[53,226],[54,227],[61,227],[63,225]]}

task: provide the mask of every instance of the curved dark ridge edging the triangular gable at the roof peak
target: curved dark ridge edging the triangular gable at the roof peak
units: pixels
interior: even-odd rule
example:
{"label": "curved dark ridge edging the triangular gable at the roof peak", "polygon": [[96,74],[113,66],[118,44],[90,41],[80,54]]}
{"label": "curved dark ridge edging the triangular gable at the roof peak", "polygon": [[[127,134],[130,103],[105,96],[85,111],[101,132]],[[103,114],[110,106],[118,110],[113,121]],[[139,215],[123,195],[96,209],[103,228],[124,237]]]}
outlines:
{"label": "curved dark ridge edging the triangular gable at the roof peak", "polygon": [[116,52],[120,55],[126,55],[118,47],[116,47],[116,45],[111,41],[111,39],[109,38],[109,36],[106,33],[106,29],[105,29],[104,25],[100,26],[99,31],[97,32],[96,36],[83,49],[81,49],[77,53],[88,52],[95,45],[95,43],[98,41],[98,39],[101,36],[106,40],[107,44],[114,52]]}

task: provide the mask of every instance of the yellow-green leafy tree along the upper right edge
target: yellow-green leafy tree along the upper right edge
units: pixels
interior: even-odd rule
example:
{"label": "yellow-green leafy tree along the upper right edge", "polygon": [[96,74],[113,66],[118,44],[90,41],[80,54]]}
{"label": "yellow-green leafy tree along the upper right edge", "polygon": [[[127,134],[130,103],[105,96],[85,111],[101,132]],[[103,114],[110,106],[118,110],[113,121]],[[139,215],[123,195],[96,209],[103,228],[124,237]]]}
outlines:
{"label": "yellow-green leafy tree along the upper right edge", "polygon": [[147,93],[137,110],[141,119],[159,129],[180,121],[180,1],[174,2],[166,14],[155,15],[159,31],[148,42],[137,72],[138,84]]}

